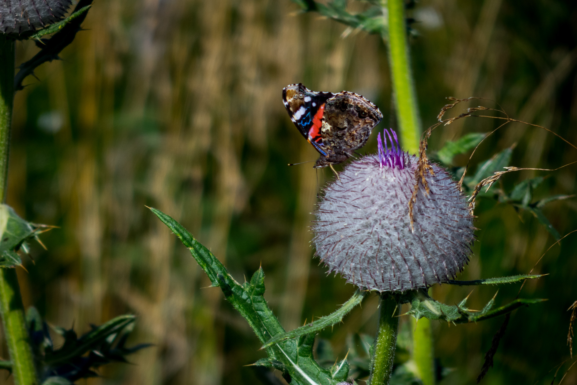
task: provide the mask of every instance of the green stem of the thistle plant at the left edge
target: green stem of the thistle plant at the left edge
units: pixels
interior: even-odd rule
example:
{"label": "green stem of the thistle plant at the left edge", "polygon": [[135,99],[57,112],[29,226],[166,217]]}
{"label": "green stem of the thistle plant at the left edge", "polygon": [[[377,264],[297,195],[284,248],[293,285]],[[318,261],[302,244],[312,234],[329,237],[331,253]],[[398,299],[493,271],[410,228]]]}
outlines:
{"label": "green stem of the thistle plant at the left edge", "polygon": [[[14,105],[14,40],[0,33],[0,201],[6,201]],[[0,312],[16,385],[38,385],[16,269],[0,268]]]}

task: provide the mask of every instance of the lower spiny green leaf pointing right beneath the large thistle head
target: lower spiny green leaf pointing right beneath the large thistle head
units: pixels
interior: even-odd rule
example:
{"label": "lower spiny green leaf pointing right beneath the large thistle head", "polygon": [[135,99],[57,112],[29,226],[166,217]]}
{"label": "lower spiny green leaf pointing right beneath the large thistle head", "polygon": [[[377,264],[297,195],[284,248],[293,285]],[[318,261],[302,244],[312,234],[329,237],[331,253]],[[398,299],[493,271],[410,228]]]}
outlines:
{"label": "lower spiny green leaf pointing right beneath the large thistle head", "polygon": [[545,300],[542,299],[517,299],[501,306],[500,308],[490,310],[494,298],[489,301],[489,304],[484,306],[482,311],[473,311],[464,306],[465,300],[461,301],[459,305],[449,306],[433,300],[429,297],[425,290],[411,290],[404,294],[405,300],[411,303],[411,310],[407,314],[412,315],[415,319],[426,317],[430,320],[444,320],[454,324],[468,323],[486,320],[489,318],[504,315],[512,312],[523,305],[537,304]]}

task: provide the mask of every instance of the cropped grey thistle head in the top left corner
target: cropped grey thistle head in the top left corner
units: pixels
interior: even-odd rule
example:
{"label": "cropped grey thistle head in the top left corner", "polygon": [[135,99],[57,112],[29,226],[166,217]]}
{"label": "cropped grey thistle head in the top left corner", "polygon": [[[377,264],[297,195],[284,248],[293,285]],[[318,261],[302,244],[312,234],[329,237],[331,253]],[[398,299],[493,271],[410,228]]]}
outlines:
{"label": "cropped grey thistle head in the top left corner", "polygon": [[71,0],[0,0],[0,32],[20,35],[60,21]]}

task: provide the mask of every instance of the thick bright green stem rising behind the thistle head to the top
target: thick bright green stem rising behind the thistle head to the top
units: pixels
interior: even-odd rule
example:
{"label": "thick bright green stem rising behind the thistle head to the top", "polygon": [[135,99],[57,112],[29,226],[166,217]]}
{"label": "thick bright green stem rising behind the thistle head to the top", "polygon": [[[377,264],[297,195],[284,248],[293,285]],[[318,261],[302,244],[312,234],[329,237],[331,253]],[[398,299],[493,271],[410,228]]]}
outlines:
{"label": "thick bright green stem rising behind the thistle head to the top", "polygon": [[396,105],[397,122],[403,148],[411,154],[418,152],[421,118],[417,94],[409,60],[407,25],[403,0],[381,0],[388,14],[388,36],[383,36],[389,48],[389,66]]}

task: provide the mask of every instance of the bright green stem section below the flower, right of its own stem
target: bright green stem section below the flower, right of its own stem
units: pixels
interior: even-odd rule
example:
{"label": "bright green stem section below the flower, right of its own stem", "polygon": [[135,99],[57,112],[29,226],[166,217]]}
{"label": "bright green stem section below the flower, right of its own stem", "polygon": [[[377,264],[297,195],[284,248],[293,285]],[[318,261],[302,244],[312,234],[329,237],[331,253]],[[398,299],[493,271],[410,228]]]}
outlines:
{"label": "bright green stem section below the flower, right of its own stem", "polygon": [[433,339],[431,322],[422,317],[419,322],[411,317],[413,323],[413,360],[423,385],[434,385]]}

